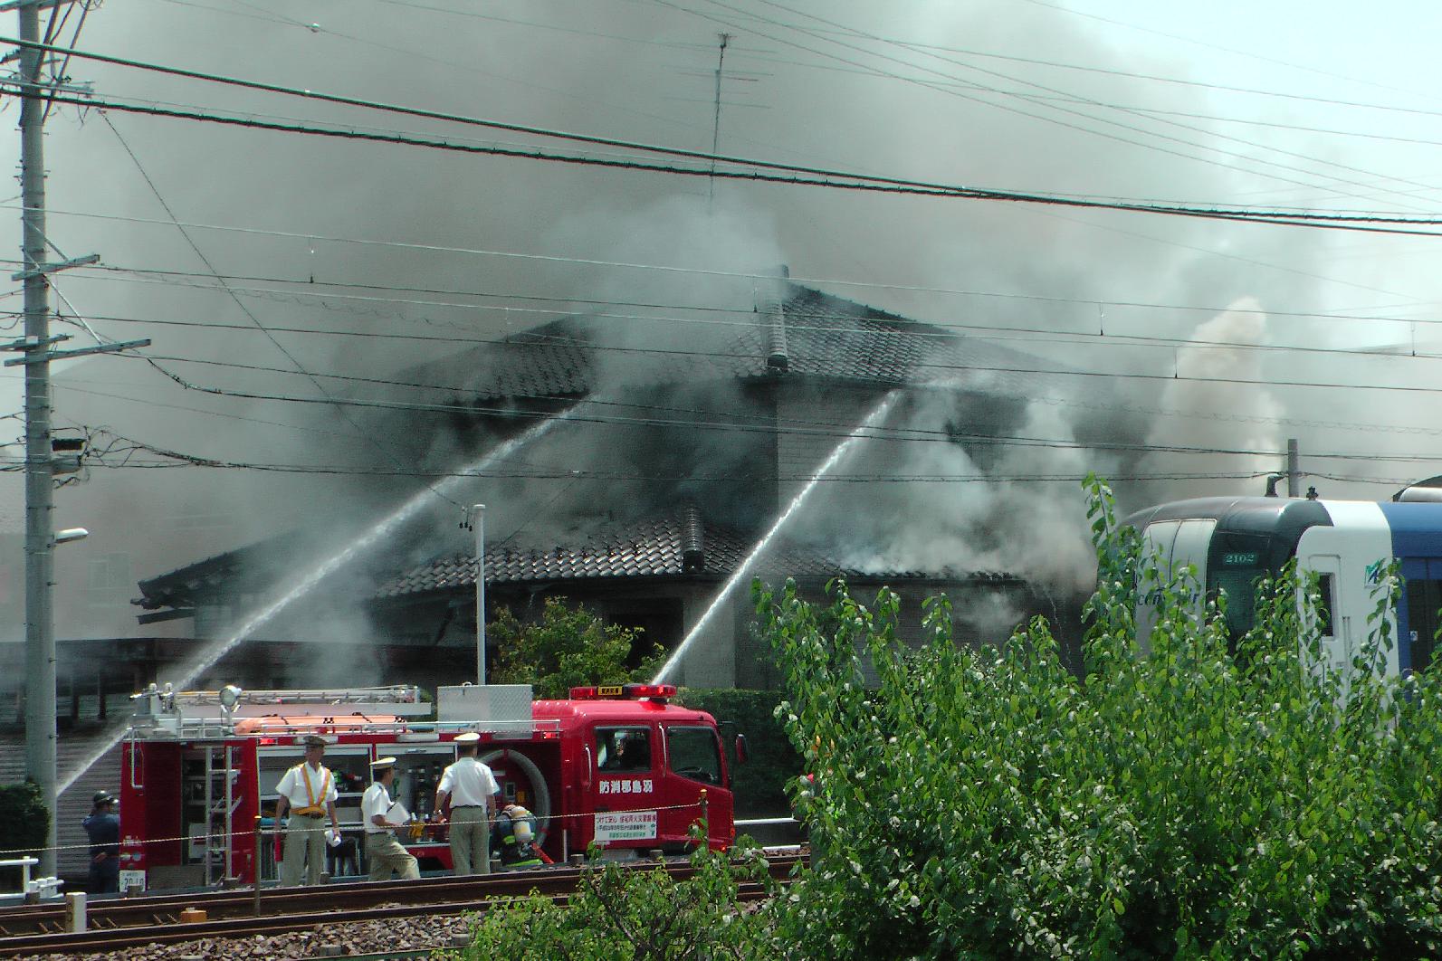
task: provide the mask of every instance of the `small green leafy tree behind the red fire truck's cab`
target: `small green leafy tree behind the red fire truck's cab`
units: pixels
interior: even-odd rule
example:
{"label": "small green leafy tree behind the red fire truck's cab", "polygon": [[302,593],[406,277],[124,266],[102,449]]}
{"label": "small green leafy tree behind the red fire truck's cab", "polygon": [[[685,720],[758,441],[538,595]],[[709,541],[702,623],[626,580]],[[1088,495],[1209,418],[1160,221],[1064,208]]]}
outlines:
{"label": "small green leafy tree behind the red fire truck's cab", "polygon": [[486,633],[496,650],[493,680],[531,684],[536,697],[565,697],[571,687],[646,680],[662,650],[639,628],[606,624],[584,607],[548,598],[535,624],[500,608]]}

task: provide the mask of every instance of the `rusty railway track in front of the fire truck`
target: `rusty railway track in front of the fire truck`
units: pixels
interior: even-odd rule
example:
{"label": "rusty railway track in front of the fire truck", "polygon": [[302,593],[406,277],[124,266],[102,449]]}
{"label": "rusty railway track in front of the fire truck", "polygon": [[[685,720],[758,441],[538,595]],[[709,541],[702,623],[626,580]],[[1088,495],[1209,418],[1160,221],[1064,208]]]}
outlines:
{"label": "rusty railway track in front of the fire truck", "polygon": [[[770,859],[771,876],[790,876],[796,857]],[[653,862],[627,864],[652,870]],[[676,877],[695,869],[668,864]],[[63,906],[23,906],[0,911],[0,957],[88,954],[144,945],[169,945],[202,938],[251,938],[322,925],[418,915],[483,912],[497,900],[538,893],[564,903],[580,883],[581,869],[551,867],[473,877],[428,877],[405,882],[353,882],[320,888],[280,888],[262,892],[255,913],[254,889],[101,900],[89,906],[88,931],[65,931]],[[744,885],[746,900],[761,898],[760,885]],[[180,912],[206,912],[205,921],[180,922]]]}

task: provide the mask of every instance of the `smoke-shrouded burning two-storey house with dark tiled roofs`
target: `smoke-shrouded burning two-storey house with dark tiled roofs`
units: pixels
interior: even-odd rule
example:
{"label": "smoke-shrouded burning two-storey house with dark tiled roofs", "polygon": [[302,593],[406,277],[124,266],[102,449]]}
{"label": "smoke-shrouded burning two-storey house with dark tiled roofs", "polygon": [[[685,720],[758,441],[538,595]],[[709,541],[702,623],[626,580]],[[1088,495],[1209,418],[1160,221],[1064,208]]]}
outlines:
{"label": "smoke-shrouded burning two-storey house with dark tiled roofs", "polygon": [[[492,608],[525,620],[564,596],[665,648],[704,621],[675,676],[692,686],[774,683],[750,631],[748,589],[717,595],[799,497],[757,553],[763,579],[790,576],[818,595],[833,578],[858,592],[890,585],[908,633],[920,599],[937,592],[978,638],[1037,612],[1074,620],[1064,594],[998,563],[1022,556],[1011,550],[1014,519],[949,517],[939,503],[926,526],[968,550],[949,558],[911,543],[920,488],[985,477],[992,441],[1027,422],[1028,398],[1057,389],[1038,372],[1047,365],[786,278],[764,287],[748,313],[632,318],[624,334],[610,316],[570,316],[399,375],[392,383],[414,392],[375,429],[412,445],[405,457],[430,475],[440,507],[257,625],[208,674],[284,687],[317,671],[327,683],[423,684],[473,673],[474,547],[441,503],[469,503],[473,488],[490,504]],[[694,330],[678,337],[678,324]],[[415,429],[423,408],[443,412],[443,431]],[[506,438],[505,457],[467,462]],[[975,475],[906,475],[917,447],[947,451]],[[893,486],[920,493],[901,504],[883,493]],[[294,586],[304,565],[291,555],[310,540],[291,533],[141,581],[140,620],[193,618],[198,638],[234,630]],[[342,653],[352,648],[365,657]],[[365,677],[327,673],[362,661]]]}

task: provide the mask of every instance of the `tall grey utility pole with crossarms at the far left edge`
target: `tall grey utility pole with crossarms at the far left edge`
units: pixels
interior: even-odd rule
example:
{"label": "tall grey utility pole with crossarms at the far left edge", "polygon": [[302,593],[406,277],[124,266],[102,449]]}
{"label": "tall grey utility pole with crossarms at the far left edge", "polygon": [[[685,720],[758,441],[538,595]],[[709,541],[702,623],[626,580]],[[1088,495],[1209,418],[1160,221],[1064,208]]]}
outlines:
{"label": "tall grey utility pole with crossarms at the far left edge", "polygon": [[22,352],[4,366],[25,366],[25,771],[40,785],[49,813],[49,833],[40,852],[40,875],[55,875],[55,585],[53,486],[55,457],[50,450],[50,362],[89,353],[110,353],[146,346],[149,340],[97,344],[79,350],[52,350],[68,336],[50,336],[50,288],[48,274],[94,264],[98,255],[46,262],[45,233],[45,122],[49,81],[42,78],[45,52],[40,43],[40,9],[71,0],[12,0],[0,10],[20,16],[20,252],[22,269],[12,280],[23,281],[25,339],[0,344],[0,350]]}

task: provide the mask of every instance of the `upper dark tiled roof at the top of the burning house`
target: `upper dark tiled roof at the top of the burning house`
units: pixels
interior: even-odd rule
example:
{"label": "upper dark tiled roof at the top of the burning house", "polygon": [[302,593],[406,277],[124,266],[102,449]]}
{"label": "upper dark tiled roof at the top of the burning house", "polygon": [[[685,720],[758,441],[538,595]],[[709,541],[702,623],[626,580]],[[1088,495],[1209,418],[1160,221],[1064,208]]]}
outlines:
{"label": "upper dark tiled roof at the top of the burning house", "polygon": [[[425,365],[411,372],[411,379],[453,385],[476,401],[496,401],[581,396],[600,386],[603,366],[610,369],[616,363],[624,363],[624,382],[630,388],[771,377],[779,373],[767,362],[776,349],[777,327],[786,353],[784,372],[808,377],[881,386],[953,380],[966,389],[1034,393],[1038,376],[1045,375],[1009,369],[1051,366],[1027,353],[789,281],[783,281],[782,291],[779,313],[731,314],[743,318],[740,327],[722,327],[721,339],[705,340],[699,333],[686,349],[652,349],[650,343],[619,340],[634,337],[634,328],[624,333],[627,328],[604,317],[575,314],[515,334],[502,344]],[[756,323],[746,321],[747,317]],[[636,328],[645,328],[645,323],[636,318]]]}

